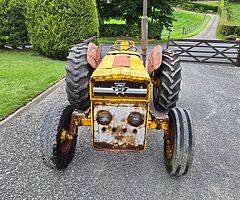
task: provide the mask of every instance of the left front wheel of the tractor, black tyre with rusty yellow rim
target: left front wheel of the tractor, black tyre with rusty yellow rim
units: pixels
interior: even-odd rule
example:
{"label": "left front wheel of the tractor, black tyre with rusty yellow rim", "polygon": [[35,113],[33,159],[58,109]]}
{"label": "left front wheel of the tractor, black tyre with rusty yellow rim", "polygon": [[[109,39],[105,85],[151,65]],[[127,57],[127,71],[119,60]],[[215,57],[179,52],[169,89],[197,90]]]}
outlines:
{"label": "left front wheel of the tractor, black tyre with rusty yellow rim", "polygon": [[65,169],[72,161],[77,143],[77,128],[74,135],[68,133],[74,108],[57,105],[45,116],[41,127],[41,152],[45,165]]}

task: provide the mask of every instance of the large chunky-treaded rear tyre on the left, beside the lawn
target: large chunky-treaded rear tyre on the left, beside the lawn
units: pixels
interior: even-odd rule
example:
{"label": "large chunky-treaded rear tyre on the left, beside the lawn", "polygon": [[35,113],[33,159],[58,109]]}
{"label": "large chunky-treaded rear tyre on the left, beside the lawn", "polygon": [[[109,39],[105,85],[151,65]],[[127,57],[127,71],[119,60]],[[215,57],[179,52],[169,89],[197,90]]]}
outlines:
{"label": "large chunky-treaded rear tyre on the left, beside the lawn", "polygon": [[93,71],[87,62],[87,50],[85,43],[71,48],[66,67],[68,101],[75,109],[82,111],[90,107],[89,80]]}

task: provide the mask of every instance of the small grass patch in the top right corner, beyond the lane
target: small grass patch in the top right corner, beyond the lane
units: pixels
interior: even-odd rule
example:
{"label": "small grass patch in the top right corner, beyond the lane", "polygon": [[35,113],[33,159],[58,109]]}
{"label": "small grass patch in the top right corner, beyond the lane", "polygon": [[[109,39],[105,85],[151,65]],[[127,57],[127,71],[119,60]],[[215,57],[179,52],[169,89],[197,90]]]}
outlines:
{"label": "small grass patch in the top right corner, beyond the lane", "polygon": [[229,24],[240,26],[240,3],[228,3]]}

